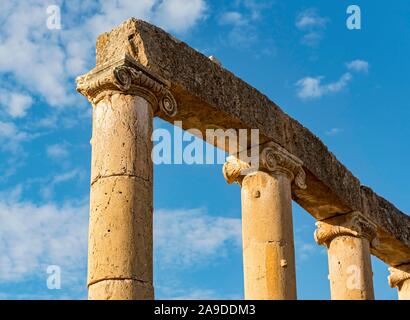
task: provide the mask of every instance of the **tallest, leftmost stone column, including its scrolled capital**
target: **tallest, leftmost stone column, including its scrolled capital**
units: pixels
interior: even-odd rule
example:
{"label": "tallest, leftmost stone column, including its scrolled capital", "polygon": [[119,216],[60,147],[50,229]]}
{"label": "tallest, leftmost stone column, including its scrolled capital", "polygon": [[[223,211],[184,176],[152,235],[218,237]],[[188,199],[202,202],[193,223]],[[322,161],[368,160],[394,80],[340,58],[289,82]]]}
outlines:
{"label": "tallest, leftmost stone column, including its scrolled capital", "polygon": [[153,299],[153,164],[157,112],[173,116],[167,83],[129,57],[77,79],[93,105],[89,299]]}

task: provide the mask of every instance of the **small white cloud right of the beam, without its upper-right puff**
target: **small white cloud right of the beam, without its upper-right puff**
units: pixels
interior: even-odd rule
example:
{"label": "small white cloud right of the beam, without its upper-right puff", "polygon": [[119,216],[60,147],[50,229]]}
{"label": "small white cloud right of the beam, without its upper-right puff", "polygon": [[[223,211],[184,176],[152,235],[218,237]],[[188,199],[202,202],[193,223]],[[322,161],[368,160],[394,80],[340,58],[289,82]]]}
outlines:
{"label": "small white cloud right of the beam, without its upper-right puff", "polygon": [[296,82],[299,98],[320,98],[324,95],[336,93],[344,89],[352,79],[350,73],[343,74],[336,82],[322,84],[323,77],[305,77]]}

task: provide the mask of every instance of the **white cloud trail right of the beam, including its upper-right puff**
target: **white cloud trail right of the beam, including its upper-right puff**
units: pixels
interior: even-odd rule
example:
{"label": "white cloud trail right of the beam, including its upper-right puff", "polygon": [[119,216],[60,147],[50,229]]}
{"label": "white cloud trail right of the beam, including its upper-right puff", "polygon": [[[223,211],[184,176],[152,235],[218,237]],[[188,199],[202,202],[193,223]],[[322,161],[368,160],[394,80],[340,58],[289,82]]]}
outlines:
{"label": "white cloud trail right of the beam, including its upper-right puff", "polygon": [[[348,62],[346,67],[351,72],[367,72],[368,62],[364,60],[354,60]],[[335,82],[323,83],[323,76],[305,77],[296,82],[297,96],[301,99],[315,99],[322,96],[342,91],[353,79],[351,72],[345,72]]]}

